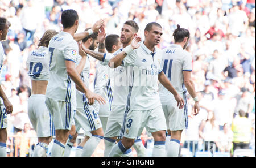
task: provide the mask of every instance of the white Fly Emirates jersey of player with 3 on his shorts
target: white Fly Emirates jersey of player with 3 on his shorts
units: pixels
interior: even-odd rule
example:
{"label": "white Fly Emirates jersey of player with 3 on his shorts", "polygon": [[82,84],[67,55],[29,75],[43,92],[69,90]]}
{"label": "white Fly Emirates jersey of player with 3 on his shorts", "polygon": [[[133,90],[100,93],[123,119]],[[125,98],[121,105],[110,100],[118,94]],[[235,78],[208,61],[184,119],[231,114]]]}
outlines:
{"label": "white Fly Emirates jersey of player with 3 on his shorts", "polygon": [[150,110],[161,105],[158,93],[161,63],[161,50],[155,48],[152,52],[143,42],[123,59],[129,78],[126,110]]}

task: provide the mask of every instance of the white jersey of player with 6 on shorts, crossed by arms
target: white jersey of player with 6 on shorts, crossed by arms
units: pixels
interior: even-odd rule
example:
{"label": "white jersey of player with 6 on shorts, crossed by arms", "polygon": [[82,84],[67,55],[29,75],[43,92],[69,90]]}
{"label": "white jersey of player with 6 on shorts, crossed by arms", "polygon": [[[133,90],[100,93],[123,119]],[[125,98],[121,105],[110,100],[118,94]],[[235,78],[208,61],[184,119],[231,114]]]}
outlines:
{"label": "white jersey of player with 6 on shorts, crossed by arms", "polygon": [[[79,65],[81,61],[81,56],[77,57],[76,66]],[[86,85],[87,88],[89,88],[90,85],[90,60],[87,56],[86,63],[84,68],[82,69],[82,72],[80,74],[82,81]],[[84,109],[84,107],[88,107],[88,100],[84,93],[76,90],[76,108],[77,109]]]}

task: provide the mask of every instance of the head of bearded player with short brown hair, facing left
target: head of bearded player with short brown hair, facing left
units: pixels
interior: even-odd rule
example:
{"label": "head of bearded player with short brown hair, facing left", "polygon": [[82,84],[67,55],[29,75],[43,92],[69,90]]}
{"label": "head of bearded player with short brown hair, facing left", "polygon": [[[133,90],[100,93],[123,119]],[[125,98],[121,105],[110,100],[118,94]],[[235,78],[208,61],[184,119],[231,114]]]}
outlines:
{"label": "head of bearded player with short brown hair, facing left", "polygon": [[128,44],[129,42],[131,42],[133,38],[137,35],[138,31],[139,26],[135,21],[126,21],[121,29],[120,41],[122,42],[122,44]]}

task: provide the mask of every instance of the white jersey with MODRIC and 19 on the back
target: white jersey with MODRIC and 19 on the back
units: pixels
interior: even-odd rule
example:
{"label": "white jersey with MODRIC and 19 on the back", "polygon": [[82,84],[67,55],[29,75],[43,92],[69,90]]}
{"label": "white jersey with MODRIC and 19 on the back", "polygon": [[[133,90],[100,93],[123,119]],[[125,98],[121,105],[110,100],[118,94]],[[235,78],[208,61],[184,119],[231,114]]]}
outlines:
{"label": "white jersey with MODRIC and 19 on the back", "polygon": [[40,46],[39,49],[31,51],[26,63],[31,80],[49,80],[48,48]]}

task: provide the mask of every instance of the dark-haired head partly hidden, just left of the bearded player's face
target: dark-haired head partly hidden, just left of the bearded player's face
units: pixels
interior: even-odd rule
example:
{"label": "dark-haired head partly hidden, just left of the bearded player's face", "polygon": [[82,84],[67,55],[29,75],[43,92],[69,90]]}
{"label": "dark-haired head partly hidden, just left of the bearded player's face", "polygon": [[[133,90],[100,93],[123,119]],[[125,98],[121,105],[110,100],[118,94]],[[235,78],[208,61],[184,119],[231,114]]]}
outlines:
{"label": "dark-haired head partly hidden, just left of the bearded player's face", "polygon": [[118,35],[111,34],[111,35],[106,36],[105,47],[109,53],[114,53],[114,51],[121,48],[121,46],[122,46],[122,43],[121,43],[120,37]]}

